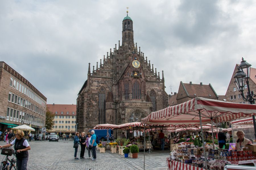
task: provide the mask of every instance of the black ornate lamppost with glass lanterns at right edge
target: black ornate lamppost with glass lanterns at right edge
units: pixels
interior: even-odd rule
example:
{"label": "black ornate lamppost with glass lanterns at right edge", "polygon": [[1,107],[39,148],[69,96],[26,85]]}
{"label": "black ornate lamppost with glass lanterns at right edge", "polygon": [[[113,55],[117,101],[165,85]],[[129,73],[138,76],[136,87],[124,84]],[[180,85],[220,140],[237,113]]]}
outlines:
{"label": "black ornate lamppost with glass lanterns at right edge", "polygon": [[[236,72],[236,75],[234,76],[234,78],[236,80],[234,83],[236,84],[236,87],[238,88],[239,92],[241,93],[243,100],[250,102],[250,104],[254,104],[255,98],[253,98],[253,97],[256,97],[256,95],[251,94],[251,91],[250,91],[250,87],[249,87],[250,71],[251,71],[251,64],[247,63],[242,58],[242,61],[241,61],[240,65],[238,66],[238,71]],[[248,94],[246,95],[246,97],[243,94],[245,82],[246,82],[247,88],[248,88]],[[256,123],[255,123],[254,115],[253,115],[253,126],[254,126],[254,136],[256,139]]]}

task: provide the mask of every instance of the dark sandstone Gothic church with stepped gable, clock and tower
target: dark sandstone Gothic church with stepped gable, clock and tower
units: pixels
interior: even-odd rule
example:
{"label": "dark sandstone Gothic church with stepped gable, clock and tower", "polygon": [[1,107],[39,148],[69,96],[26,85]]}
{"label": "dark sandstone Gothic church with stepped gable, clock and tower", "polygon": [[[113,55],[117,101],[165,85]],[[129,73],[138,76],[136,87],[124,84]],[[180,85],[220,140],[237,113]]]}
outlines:
{"label": "dark sandstone Gothic church with stepped gable, clock and tower", "polygon": [[168,106],[164,72],[157,72],[133,39],[133,20],[123,19],[122,42],[96,67],[89,63],[88,78],[77,97],[77,131],[97,124],[140,121]]}

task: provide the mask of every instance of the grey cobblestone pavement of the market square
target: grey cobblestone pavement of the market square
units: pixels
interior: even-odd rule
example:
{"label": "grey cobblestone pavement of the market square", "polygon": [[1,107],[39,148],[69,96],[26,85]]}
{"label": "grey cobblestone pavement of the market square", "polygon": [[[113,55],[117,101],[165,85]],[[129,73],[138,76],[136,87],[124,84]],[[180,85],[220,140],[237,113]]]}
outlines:
{"label": "grey cobblestone pavement of the market square", "polygon": [[[5,142],[0,141],[0,145],[5,144]],[[139,152],[138,158],[124,158],[124,155],[111,153],[110,150],[106,150],[105,153],[99,153],[99,150],[97,150],[97,160],[92,161],[90,159],[86,159],[88,158],[88,151],[85,150],[85,159],[74,160],[75,149],[73,148],[73,141],[31,141],[29,144],[31,146],[31,150],[28,151],[28,170],[144,169],[143,152]],[[156,150],[150,154],[145,153],[145,169],[166,170],[166,158],[170,156],[169,154],[169,150]],[[78,148],[77,157],[80,157],[80,146]],[[3,155],[0,155],[0,159],[3,159]]]}

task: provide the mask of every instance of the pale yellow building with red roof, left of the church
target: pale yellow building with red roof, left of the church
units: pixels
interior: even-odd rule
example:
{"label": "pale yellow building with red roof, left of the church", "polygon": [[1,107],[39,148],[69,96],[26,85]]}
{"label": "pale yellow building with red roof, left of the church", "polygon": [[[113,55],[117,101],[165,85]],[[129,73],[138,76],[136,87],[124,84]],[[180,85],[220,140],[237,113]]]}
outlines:
{"label": "pale yellow building with red roof, left of the church", "polygon": [[47,133],[57,133],[58,135],[72,135],[76,130],[76,110],[77,105],[52,105],[47,104],[47,108],[54,114],[54,125]]}

